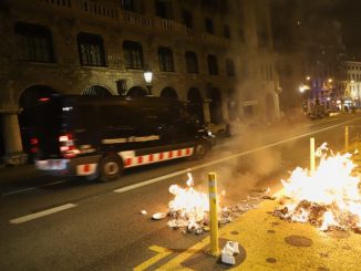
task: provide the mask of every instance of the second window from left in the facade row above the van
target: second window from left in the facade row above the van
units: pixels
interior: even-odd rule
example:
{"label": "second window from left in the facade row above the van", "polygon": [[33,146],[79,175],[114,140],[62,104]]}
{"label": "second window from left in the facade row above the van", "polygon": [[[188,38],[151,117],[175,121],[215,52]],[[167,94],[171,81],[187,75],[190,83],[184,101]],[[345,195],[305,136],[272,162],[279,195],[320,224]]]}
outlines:
{"label": "second window from left in the facade row above the van", "polygon": [[89,66],[105,66],[103,40],[100,35],[90,33],[78,34],[80,63]]}

